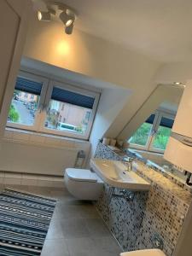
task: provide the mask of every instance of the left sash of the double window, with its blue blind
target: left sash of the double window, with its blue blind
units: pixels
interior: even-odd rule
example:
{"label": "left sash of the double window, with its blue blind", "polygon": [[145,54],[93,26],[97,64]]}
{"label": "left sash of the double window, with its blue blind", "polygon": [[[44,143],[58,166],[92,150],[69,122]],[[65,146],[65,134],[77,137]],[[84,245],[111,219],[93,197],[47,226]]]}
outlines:
{"label": "left sash of the double window, with its blue blind", "polygon": [[20,72],[9,108],[8,125],[15,128],[37,129],[38,111],[46,88],[46,79]]}

